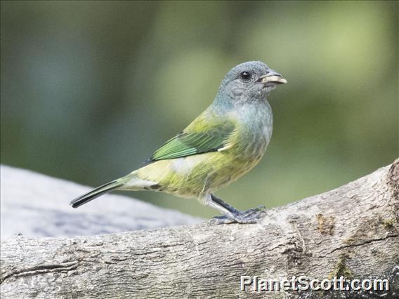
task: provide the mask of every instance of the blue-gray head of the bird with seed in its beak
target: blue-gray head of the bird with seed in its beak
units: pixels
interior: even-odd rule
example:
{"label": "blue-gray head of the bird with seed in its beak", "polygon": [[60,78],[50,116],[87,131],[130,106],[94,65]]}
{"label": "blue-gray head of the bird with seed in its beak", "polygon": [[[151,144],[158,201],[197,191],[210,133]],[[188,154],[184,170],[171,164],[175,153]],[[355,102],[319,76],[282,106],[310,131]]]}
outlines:
{"label": "blue-gray head of the bird with seed in its beak", "polygon": [[282,75],[261,61],[244,62],[225,75],[219,89],[232,100],[264,100],[275,86],[287,83]]}

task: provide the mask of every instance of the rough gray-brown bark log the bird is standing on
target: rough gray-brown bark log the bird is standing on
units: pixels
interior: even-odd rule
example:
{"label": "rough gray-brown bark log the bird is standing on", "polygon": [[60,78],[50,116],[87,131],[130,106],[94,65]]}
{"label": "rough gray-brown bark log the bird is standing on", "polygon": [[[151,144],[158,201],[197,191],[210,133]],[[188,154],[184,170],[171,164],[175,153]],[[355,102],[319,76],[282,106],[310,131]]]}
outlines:
{"label": "rough gray-brown bark log the bird is standing on", "polygon": [[390,280],[398,294],[399,160],[254,225],[167,227],[1,243],[3,298],[353,298],[379,292],[256,293],[240,276]]}

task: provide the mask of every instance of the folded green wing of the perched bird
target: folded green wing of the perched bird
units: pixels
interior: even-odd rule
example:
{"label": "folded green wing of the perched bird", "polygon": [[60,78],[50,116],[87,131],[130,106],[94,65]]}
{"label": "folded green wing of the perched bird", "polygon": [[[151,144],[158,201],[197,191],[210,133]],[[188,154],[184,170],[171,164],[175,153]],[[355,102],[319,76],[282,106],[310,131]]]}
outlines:
{"label": "folded green wing of the perched bird", "polygon": [[204,124],[203,121],[193,122],[185,131],[168,140],[145,163],[216,152],[230,145],[230,137],[235,131],[232,121],[224,120],[211,126],[202,126],[201,123]]}

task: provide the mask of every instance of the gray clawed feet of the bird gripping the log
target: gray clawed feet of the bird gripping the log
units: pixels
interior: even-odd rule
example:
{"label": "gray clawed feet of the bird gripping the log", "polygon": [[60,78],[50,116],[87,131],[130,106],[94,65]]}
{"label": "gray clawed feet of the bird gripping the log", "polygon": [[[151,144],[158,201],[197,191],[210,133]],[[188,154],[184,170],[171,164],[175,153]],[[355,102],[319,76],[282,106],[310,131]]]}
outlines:
{"label": "gray clawed feet of the bird gripping the log", "polygon": [[265,206],[250,208],[247,211],[237,211],[232,215],[216,216],[211,218],[208,223],[211,225],[221,225],[230,223],[258,223],[266,216]]}

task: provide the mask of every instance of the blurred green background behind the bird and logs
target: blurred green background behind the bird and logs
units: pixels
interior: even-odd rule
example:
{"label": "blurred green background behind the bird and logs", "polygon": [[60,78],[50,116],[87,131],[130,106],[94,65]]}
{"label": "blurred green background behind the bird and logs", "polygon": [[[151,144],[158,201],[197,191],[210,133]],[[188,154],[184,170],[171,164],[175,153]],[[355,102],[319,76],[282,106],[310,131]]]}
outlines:
{"label": "blurred green background behind the bird and logs", "polygon": [[398,157],[398,15],[397,1],[1,1],[1,163],[103,184],[262,60],[289,81],[269,97],[273,138],[218,195],[244,209],[331,190]]}

